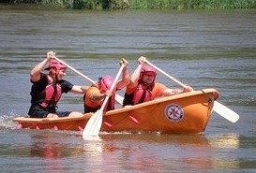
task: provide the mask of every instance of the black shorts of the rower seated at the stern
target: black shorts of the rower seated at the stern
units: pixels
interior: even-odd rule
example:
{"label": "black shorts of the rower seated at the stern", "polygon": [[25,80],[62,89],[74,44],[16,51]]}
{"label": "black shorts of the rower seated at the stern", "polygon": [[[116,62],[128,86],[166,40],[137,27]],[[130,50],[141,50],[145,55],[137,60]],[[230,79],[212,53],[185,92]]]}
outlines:
{"label": "black shorts of the rower seated at the stern", "polygon": [[58,115],[58,117],[68,117],[71,111],[49,111],[44,108],[41,108],[40,106],[32,106],[29,109],[28,115],[31,118],[47,118],[49,113],[56,114]]}

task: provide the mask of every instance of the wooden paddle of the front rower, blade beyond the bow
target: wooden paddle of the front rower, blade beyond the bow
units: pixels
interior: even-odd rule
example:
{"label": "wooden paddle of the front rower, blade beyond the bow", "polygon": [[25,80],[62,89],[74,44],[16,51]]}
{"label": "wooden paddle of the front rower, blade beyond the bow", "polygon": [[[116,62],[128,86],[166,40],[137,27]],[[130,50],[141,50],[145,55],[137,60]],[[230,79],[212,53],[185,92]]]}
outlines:
{"label": "wooden paddle of the front rower, blade beyond the bow", "polygon": [[[179,84],[180,86],[182,86],[183,88],[187,88],[187,86],[185,84],[183,84],[182,82],[180,82],[177,79],[174,79],[173,77],[171,77],[170,75],[168,75],[167,73],[165,73],[164,71],[162,71],[160,68],[158,68],[158,66],[151,64],[150,62],[148,62],[147,60],[145,60],[145,63],[148,65],[153,66],[154,68],[156,68],[160,73],[162,73],[163,75],[165,75],[167,78],[172,79],[174,82],[176,82],[177,84]],[[239,115],[237,113],[235,113],[232,109],[225,107],[224,105],[218,103],[218,101],[214,102],[214,107],[213,110],[216,111],[218,113],[218,115],[222,116],[223,118],[227,119],[228,121],[232,122],[232,123],[236,123],[239,119]]]}

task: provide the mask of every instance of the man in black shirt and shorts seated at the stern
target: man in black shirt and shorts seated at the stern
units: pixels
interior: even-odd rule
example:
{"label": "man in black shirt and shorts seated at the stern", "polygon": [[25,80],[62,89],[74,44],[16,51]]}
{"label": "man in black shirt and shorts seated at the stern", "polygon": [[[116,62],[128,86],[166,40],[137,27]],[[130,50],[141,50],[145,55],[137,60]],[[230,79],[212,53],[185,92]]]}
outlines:
{"label": "man in black shirt and shorts seated at the stern", "polygon": [[[57,111],[57,102],[63,93],[84,94],[89,86],[73,85],[65,79],[67,66],[54,59],[55,52],[47,52],[47,57],[30,72],[31,107],[28,115],[31,118],[58,118],[83,116],[82,112]],[[49,67],[45,65],[49,63]],[[49,74],[41,71],[49,70]]]}

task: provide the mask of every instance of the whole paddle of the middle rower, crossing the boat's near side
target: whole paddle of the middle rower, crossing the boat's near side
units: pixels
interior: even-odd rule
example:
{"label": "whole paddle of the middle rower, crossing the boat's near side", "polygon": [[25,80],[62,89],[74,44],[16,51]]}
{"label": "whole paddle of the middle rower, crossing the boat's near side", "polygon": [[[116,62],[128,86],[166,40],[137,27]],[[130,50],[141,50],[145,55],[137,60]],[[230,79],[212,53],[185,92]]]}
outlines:
{"label": "whole paddle of the middle rower, crossing the boat's near side", "polygon": [[[110,89],[111,92],[113,92],[113,88],[117,82],[117,79],[119,79],[124,67],[125,67],[124,65],[121,65],[115,79],[113,80],[113,84]],[[99,108],[98,111],[92,115],[92,117],[90,118],[88,123],[86,123],[86,125],[83,129],[83,138],[86,138],[86,136],[98,136],[98,133],[99,133],[99,130],[100,130],[100,127],[102,124],[103,110],[104,110],[109,98],[110,98],[110,96],[107,95],[106,98],[104,99],[104,102],[103,102],[101,108]]]}

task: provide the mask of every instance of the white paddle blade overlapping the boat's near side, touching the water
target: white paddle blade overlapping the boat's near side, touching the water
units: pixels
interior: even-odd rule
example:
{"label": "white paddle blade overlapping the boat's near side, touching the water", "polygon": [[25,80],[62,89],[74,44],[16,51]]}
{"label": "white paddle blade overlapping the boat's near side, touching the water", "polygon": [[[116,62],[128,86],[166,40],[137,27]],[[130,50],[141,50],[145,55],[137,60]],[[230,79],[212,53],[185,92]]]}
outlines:
{"label": "white paddle blade overlapping the boat's near side, touching the water", "polygon": [[93,114],[93,116],[89,119],[83,129],[83,138],[86,136],[98,136],[99,130],[101,128],[103,111],[98,109],[97,112]]}

